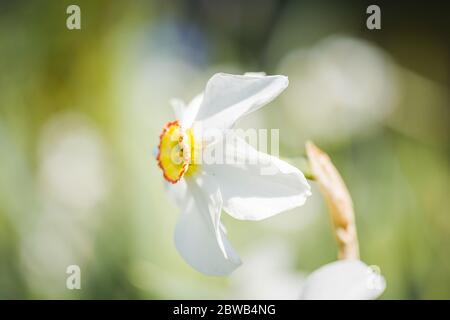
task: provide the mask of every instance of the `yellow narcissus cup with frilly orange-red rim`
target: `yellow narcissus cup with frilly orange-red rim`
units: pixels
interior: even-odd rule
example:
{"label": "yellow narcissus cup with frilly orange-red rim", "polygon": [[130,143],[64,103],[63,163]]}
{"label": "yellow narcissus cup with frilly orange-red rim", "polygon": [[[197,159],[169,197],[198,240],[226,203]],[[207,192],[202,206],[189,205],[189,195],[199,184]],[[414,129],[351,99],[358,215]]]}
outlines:
{"label": "yellow narcissus cup with frilly orange-red rim", "polygon": [[159,136],[158,165],[164,178],[178,182],[196,170],[194,135],[191,129],[183,131],[178,121],[167,123]]}

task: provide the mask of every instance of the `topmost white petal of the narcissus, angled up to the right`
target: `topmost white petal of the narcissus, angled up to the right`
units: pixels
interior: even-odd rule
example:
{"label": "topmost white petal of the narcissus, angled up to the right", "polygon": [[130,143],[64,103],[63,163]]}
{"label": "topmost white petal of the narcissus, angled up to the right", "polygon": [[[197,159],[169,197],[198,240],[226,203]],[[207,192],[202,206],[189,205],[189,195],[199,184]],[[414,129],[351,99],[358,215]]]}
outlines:
{"label": "topmost white petal of the narcissus, angled up to the right", "polygon": [[195,121],[204,129],[227,129],[243,115],[278,96],[289,84],[285,76],[215,74],[207,83]]}

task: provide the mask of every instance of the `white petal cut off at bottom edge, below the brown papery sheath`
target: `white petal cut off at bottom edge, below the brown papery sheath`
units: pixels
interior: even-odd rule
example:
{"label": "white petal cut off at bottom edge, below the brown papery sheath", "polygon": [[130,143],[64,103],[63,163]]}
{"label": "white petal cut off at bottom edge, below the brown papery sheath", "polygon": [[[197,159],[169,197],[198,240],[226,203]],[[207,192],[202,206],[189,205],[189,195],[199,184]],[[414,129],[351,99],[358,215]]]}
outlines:
{"label": "white petal cut off at bottom edge, below the brown papery sheath", "polygon": [[359,260],[340,260],[314,271],[306,279],[305,300],[370,300],[380,296],[386,282]]}

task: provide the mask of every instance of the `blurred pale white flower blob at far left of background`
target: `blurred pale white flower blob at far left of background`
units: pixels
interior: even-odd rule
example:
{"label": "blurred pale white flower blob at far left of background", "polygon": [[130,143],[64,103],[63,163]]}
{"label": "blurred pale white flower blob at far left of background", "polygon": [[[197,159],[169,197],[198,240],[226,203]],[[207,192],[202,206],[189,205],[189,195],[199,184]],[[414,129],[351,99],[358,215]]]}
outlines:
{"label": "blurred pale white flower blob at far left of background", "polygon": [[79,114],[50,120],[40,141],[40,187],[44,196],[77,211],[92,209],[106,195],[105,146]]}

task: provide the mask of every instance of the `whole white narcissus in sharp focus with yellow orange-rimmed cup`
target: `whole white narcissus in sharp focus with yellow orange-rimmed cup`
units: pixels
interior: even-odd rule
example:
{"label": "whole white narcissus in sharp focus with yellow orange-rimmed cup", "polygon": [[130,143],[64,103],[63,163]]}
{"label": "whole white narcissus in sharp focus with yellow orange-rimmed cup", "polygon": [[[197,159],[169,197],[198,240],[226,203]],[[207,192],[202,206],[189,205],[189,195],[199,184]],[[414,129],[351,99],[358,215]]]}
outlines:
{"label": "whole white narcissus in sharp focus with yellow orange-rimmed cup", "polygon": [[[185,106],[173,100],[178,120],[160,135],[158,164],[169,194],[181,207],[175,244],[181,256],[208,275],[227,275],[241,261],[225,237],[222,209],[236,219],[261,220],[303,205],[310,187],[303,173],[280,159],[259,152],[243,139],[206,139],[198,133],[224,133],[247,115],[277,97],[287,86],[285,76],[215,74],[205,91]],[[228,131],[227,131],[228,132]],[[225,163],[201,161],[218,144]],[[264,170],[270,167],[270,173]]]}

